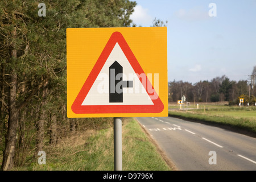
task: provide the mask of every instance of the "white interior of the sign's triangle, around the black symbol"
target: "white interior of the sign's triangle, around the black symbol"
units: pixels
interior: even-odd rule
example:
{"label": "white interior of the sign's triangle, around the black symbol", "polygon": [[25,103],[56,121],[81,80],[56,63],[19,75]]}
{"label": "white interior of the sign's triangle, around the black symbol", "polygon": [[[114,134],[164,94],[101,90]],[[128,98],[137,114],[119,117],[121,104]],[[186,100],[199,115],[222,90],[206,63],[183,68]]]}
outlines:
{"label": "white interior of the sign's triangle, around the black symbol", "polygon": [[[123,67],[123,80],[133,81],[133,88],[123,88],[123,102],[109,102],[109,67],[114,61],[118,61]],[[154,105],[135,74],[121,47],[116,43],[82,105]]]}

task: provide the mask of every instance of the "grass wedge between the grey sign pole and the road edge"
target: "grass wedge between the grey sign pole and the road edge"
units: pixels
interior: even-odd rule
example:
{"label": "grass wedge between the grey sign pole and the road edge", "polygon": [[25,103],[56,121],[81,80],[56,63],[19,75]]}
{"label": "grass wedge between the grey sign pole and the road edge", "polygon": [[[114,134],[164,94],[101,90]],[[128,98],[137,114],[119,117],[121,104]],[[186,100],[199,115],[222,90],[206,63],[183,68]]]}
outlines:
{"label": "grass wedge between the grey sign pole and the road edge", "polygon": [[123,132],[123,166],[125,170],[170,170],[156,147],[142,131],[138,122],[131,121],[124,127]]}

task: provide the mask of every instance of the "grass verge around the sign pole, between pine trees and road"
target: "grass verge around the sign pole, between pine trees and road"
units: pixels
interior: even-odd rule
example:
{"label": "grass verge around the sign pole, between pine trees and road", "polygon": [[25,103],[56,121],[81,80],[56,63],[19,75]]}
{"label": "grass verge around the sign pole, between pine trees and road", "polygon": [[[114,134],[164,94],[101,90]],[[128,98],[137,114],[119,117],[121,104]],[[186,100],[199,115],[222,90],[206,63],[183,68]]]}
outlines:
{"label": "grass verge around the sign pole, between pine trees and road", "polygon": [[[46,148],[46,164],[38,158],[28,166],[13,170],[113,171],[113,129],[79,134],[63,140],[58,146]],[[157,148],[133,119],[122,127],[123,170],[171,170]]]}

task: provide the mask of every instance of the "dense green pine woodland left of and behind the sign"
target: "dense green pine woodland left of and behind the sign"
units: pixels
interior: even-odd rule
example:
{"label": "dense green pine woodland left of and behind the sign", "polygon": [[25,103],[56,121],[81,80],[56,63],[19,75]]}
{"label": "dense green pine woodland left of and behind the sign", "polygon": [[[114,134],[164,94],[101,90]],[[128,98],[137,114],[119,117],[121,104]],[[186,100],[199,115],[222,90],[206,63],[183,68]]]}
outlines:
{"label": "dense green pine woodland left of and behind the sign", "polygon": [[46,145],[107,118],[67,118],[66,28],[130,27],[129,0],[0,1],[0,165],[31,162]]}

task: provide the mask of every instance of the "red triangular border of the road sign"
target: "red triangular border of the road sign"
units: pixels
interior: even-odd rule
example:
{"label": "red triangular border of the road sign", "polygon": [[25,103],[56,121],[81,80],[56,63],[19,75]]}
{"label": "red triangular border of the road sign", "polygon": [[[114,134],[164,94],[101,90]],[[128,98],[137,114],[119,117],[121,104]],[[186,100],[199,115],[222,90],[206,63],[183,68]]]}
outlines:
{"label": "red triangular border of the road sign", "polygon": [[[125,38],[123,38],[122,34],[120,32],[113,32],[96,64],[94,65],[92,71],[90,72],[88,78],[86,79],[84,85],[82,86],[79,94],[73,102],[71,106],[72,111],[76,114],[160,113],[164,109],[164,105],[163,102],[160,100],[160,97],[152,100],[153,105],[81,105],[85,97],[89,93],[90,88],[92,88],[94,81],[99,75],[102,67],[104,66],[116,43],[118,43],[121,47],[123,53],[131,64],[131,67],[134,69],[135,73],[138,73],[138,75],[144,73],[141,65],[138,63],[138,60],[126,43],[126,40]],[[150,84],[148,86],[152,87],[148,78],[147,84]],[[143,82],[142,85],[147,91],[147,85],[143,84]],[[147,94],[150,95],[148,91]]]}

